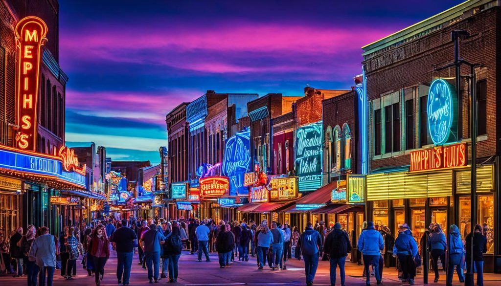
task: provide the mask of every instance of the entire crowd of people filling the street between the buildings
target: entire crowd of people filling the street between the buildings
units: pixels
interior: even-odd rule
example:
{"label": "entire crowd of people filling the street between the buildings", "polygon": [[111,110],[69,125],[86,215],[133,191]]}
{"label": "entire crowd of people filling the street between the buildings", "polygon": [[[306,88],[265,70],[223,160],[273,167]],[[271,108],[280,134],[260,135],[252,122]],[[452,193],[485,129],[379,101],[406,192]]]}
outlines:
{"label": "entire crowd of people filling the street between the buildings", "polygon": [[[452,284],[456,269],[459,280],[464,281],[464,266],[469,271],[471,255],[477,273],[477,285],[483,285],[483,253],[486,238],[482,227],[475,225],[474,232],[461,237],[456,225],[449,228],[449,244],[439,224],[432,223],[425,231],[418,246],[409,226],[399,227],[394,239],[386,226],[379,227],[372,221],[364,222],[358,238],[357,248],[364,264],[363,275],[370,285],[371,276],[376,283],[382,283],[383,265],[388,258],[396,260],[399,278],[402,282],[414,284],[416,267],[421,265],[423,251],[432,258],[435,273],[434,282],[439,280],[438,260],[448,271],[447,285]],[[176,282],[178,263],[183,250],[197,253],[198,261],[209,262],[209,252],[217,252],[219,266],[230,267],[234,259],[248,261],[257,256],[258,270],[265,265],[272,270],[286,269],[286,261],[303,259],[308,286],[313,285],[319,260],[330,262],[330,282],[336,284],[339,268],[341,285],[345,285],[346,257],[352,252],[350,235],[338,222],[327,227],[323,222],[315,226],[308,222],[302,233],[297,227],[290,228],[286,222],[269,223],[266,219],[254,221],[198,220],[183,218],[173,221],[129,217],[121,221],[114,218],[93,220],[89,225],[82,222],[79,227],[66,226],[58,237],[51,235],[45,226],[29,225],[26,234],[20,227],[9,240],[0,233],[0,272],[27,277],[29,286],[52,286],[56,269],[61,276],[73,280],[77,272],[77,259],[82,257],[82,267],[88,276],[93,276],[97,286],[104,277],[104,267],[110,257],[110,248],[116,251],[118,284],[128,285],[133,257],[138,252],[143,269],[147,269],[150,283],[161,278]],[[471,252],[473,236],[473,252]],[[425,242],[426,241],[426,242]],[[448,247],[447,247],[448,246]],[[421,251],[419,251],[421,248]],[[420,253],[421,252],[421,253]],[[250,255],[249,255],[250,254]],[[447,257],[446,257],[447,256]],[[447,264],[446,264],[447,261]],[[268,262],[268,263],[267,263]],[[38,281],[37,281],[38,277]]]}

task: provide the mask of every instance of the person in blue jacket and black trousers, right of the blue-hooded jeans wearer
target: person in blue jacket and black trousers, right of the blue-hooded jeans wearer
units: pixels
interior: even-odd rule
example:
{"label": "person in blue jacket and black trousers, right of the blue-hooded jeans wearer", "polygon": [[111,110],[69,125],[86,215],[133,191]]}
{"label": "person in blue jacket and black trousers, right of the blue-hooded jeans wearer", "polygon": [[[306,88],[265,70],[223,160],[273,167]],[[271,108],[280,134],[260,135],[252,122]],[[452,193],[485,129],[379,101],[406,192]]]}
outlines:
{"label": "person in blue jacket and black trousers, right of the blue-hooded jeans wearer", "polygon": [[418,254],[418,246],[409,225],[404,223],[400,226],[397,239],[393,245],[393,255],[398,257],[402,268],[402,282],[409,282],[414,285],[414,277],[416,276],[416,264],[414,257]]}

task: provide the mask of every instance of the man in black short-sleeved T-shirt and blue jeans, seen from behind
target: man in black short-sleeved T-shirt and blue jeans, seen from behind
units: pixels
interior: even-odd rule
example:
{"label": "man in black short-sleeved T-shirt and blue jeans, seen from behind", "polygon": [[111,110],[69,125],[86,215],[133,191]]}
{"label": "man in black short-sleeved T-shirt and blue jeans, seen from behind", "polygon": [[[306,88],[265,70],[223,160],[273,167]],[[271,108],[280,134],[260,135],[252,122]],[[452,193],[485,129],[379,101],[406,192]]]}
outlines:
{"label": "man in black short-sleeved T-shirt and blue jeans, seen from behind", "polygon": [[113,248],[117,251],[117,280],[118,284],[128,285],[134,245],[137,244],[137,234],[127,227],[127,220],[122,219],[122,227],[115,230],[111,239]]}

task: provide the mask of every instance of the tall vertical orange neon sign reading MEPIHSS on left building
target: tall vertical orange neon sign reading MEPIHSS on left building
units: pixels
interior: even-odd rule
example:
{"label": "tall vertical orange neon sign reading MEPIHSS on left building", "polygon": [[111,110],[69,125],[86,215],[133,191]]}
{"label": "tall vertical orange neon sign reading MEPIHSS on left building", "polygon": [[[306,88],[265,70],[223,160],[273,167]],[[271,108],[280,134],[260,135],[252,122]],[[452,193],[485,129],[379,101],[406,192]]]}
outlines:
{"label": "tall vertical orange neon sign reading MEPIHSS on left building", "polygon": [[23,150],[37,148],[37,101],[42,46],[47,39],[47,25],[38,17],[26,17],[15,29],[18,47],[16,146]]}

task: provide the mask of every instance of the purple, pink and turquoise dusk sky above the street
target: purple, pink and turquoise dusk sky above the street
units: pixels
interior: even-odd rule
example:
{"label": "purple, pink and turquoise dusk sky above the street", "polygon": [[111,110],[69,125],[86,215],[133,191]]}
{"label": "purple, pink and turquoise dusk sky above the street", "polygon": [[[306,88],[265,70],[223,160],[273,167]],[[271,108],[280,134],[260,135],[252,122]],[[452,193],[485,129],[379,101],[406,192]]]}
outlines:
{"label": "purple, pink and turquoise dusk sky above the street", "polygon": [[362,46],[461,2],[60,0],[67,145],[156,164],[181,102],[350,89]]}

